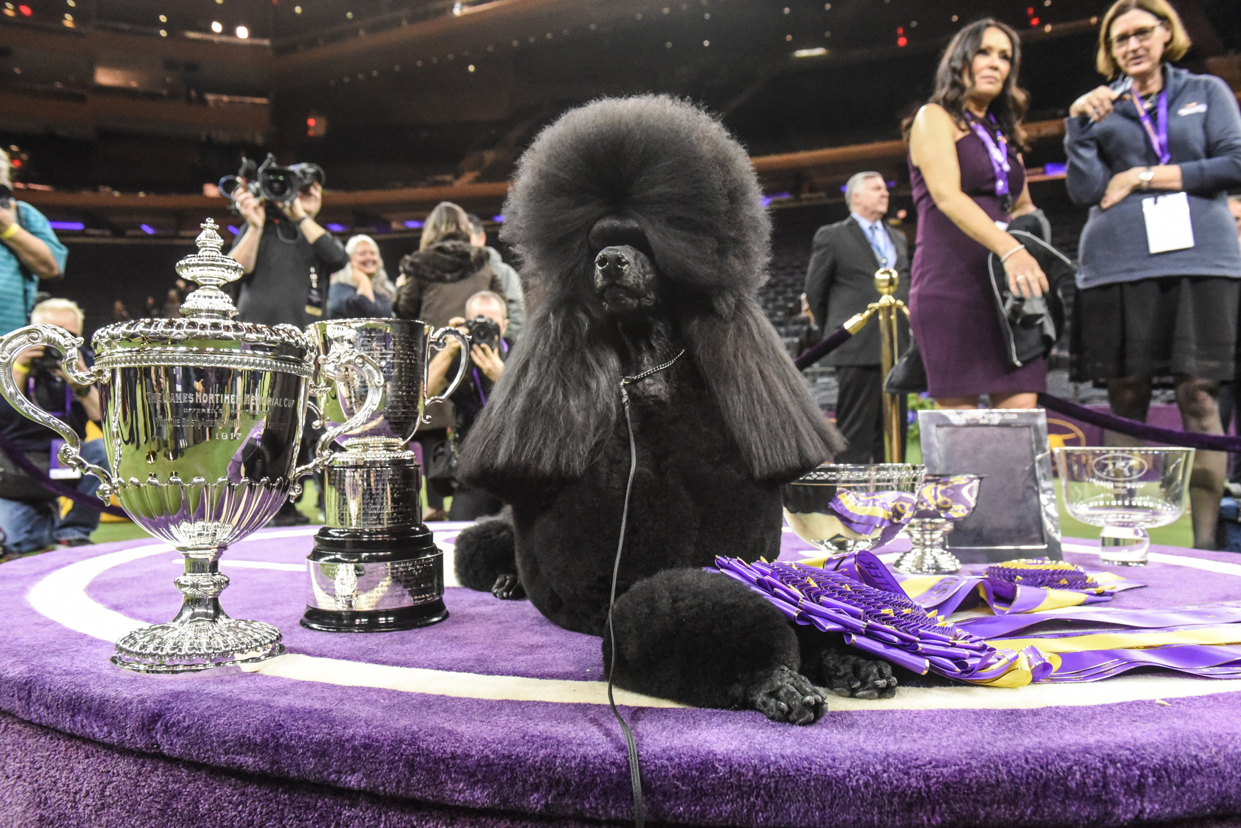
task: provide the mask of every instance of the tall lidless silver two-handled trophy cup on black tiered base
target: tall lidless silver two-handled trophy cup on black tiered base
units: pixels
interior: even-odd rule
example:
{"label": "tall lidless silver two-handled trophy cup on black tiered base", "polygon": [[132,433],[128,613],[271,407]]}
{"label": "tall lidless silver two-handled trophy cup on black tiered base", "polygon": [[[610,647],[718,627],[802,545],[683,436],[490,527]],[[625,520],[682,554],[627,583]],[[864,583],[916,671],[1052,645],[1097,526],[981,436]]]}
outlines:
{"label": "tall lidless silver two-handled trophy cup on black tiered base", "polygon": [[[469,341],[453,327],[432,332],[426,322],[352,319],[315,322],[310,337],[325,353],[354,348],[382,371],[382,403],[370,416],[340,431],[344,451],[324,467],[326,521],[308,558],[309,590],[302,625],[325,632],[411,630],[448,617],[444,562],[422,522],[418,460],[406,449],[427,404],[446,399],[469,366]],[[457,377],[443,394],[427,399],[432,348],[448,337],[462,342]],[[326,390],[326,389],[325,389]],[[325,419],[356,420],[371,393],[369,381],[338,374],[319,394]]]}

